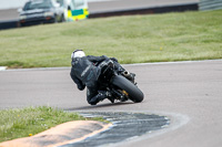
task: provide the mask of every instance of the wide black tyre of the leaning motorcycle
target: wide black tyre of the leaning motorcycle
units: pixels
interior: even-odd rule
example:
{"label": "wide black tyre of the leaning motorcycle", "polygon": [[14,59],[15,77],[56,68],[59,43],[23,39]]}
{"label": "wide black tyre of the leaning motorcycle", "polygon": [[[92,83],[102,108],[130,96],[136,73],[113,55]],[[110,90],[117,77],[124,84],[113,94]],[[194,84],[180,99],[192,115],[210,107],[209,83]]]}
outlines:
{"label": "wide black tyre of the leaning motorcycle", "polygon": [[122,75],[114,76],[111,83],[120,90],[124,90],[129,94],[130,99],[134,103],[140,103],[143,101],[143,93],[132,82]]}

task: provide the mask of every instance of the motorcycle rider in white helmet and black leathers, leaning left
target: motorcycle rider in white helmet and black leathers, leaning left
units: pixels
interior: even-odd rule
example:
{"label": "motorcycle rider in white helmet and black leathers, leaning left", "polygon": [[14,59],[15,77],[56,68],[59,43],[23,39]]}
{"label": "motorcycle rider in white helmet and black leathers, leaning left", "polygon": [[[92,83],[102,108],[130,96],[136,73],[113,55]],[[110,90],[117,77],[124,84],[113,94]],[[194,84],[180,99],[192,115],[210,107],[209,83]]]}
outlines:
{"label": "motorcycle rider in white helmet and black leathers, leaning left", "polygon": [[[71,54],[71,78],[77,84],[80,91],[83,91],[87,86],[87,101],[91,105],[97,105],[98,102],[108,98],[111,103],[114,103],[114,98],[111,97],[111,93],[108,91],[99,91],[98,77],[100,76],[101,69],[99,65],[104,60],[112,60],[114,67],[120,73],[125,73],[125,70],[118,63],[114,57],[102,56],[85,56],[82,50],[75,50]],[[134,81],[134,74],[125,75],[131,81]]]}

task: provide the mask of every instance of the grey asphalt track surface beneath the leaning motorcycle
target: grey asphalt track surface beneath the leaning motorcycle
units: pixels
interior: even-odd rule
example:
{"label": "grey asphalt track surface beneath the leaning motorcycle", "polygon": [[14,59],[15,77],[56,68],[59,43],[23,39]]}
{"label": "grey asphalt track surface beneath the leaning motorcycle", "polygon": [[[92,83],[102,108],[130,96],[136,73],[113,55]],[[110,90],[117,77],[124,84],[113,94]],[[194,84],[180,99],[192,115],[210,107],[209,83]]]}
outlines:
{"label": "grey asphalt track surface beneath the leaning motorcycle", "polygon": [[0,72],[0,108],[48,105],[75,112],[144,112],[171,118],[168,128],[114,146],[221,147],[222,61],[124,65],[144,101],[90,106],[70,69]]}

